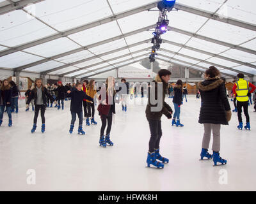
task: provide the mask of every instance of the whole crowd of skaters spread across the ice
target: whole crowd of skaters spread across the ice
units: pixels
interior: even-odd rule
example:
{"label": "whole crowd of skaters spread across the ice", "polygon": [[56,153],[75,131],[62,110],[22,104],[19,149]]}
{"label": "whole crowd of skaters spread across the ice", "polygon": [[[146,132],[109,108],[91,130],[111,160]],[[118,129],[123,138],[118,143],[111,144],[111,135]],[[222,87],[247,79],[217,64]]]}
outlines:
{"label": "whole crowd of skaters spread across the ice", "polygon": [[[188,101],[188,89],[182,80],[177,80],[175,85],[169,84],[172,73],[167,69],[161,69],[153,82],[143,85],[129,84],[122,78],[120,83],[115,82],[115,78],[108,77],[106,82],[100,86],[96,86],[95,80],[84,80],[83,83],[66,84],[62,82],[47,85],[42,84],[41,79],[36,79],[35,86],[29,86],[26,91],[26,112],[29,111],[29,105],[35,112],[33,120],[33,128],[31,133],[35,133],[37,127],[37,119],[40,112],[42,119],[42,133],[45,132],[45,110],[46,108],[55,108],[64,110],[65,101],[70,100],[71,122],[69,133],[72,134],[76,122],[76,115],[79,119],[78,134],[85,135],[83,130],[83,120],[86,126],[97,125],[95,121],[95,106],[99,112],[101,120],[99,145],[100,147],[113,146],[114,143],[110,139],[113,117],[116,113],[116,103],[122,104],[122,111],[127,112],[128,99],[138,97],[138,91],[141,91],[141,97],[147,92],[148,104],[145,111],[150,129],[150,141],[147,156],[148,166],[164,168],[164,164],[169,159],[164,158],[160,154],[160,140],[162,136],[161,117],[165,115],[168,119],[172,119],[172,126],[184,127],[180,123],[180,108],[183,100]],[[250,130],[250,117],[248,106],[252,105],[252,93],[255,91],[255,85],[244,80],[244,75],[239,73],[238,80],[234,82],[232,89],[232,101],[234,101],[235,109],[239,120],[238,129],[243,129],[242,108],[246,116],[245,129]],[[160,86],[159,86],[160,84]],[[204,159],[213,159],[214,165],[227,164],[227,159],[220,157],[220,129],[221,125],[228,125],[231,119],[231,108],[228,102],[227,90],[225,82],[220,77],[220,71],[211,66],[205,71],[205,80],[199,82],[198,93],[201,97],[201,108],[199,115],[199,123],[204,124],[204,137],[202,140],[202,151],[200,157]],[[159,96],[160,94],[160,96]],[[164,98],[166,94],[172,98],[174,112]],[[3,122],[4,108],[6,108],[9,117],[8,126],[12,126],[12,113],[19,112],[18,98],[20,95],[19,87],[13,81],[3,80],[0,84],[0,126]],[[159,98],[160,97],[160,98]],[[157,102],[156,102],[157,101]],[[256,105],[255,105],[256,106]],[[256,107],[255,111],[256,111]],[[212,151],[208,152],[209,142],[213,134]]]}

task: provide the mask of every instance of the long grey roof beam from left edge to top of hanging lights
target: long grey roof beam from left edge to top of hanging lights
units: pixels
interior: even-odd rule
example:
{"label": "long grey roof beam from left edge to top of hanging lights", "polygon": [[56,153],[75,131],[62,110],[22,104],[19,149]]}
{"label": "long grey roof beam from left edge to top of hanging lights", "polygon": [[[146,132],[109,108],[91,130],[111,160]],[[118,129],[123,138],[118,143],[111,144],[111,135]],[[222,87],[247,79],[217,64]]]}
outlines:
{"label": "long grey roof beam from left edge to top of hanging lights", "polygon": [[3,51],[0,52],[0,57],[3,57],[4,55],[12,54],[14,52],[18,52],[20,50],[24,50],[26,48],[34,47],[36,45],[40,45],[42,43],[46,43],[46,42],[49,42],[49,41],[52,41],[52,40],[67,37],[71,34],[79,33],[81,31],[85,31],[87,29],[96,27],[98,25],[107,24],[109,22],[118,20],[120,18],[129,17],[130,15],[134,15],[134,14],[140,13],[142,11],[150,10],[151,8],[154,8],[154,7],[157,6],[157,2],[150,3],[150,4],[147,4],[147,5],[144,5],[144,6],[140,6],[138,8],[134,8],[134,9],[129,10],[129,11],[124,11],[122,13],[118,13],[118,14],[113,15],[111,17],[102,18],[101,20],[97,20],[97,21],[89,23],[89,24],[84,24],[84,25],[81,25],[79,27],[75,27],[75,28],[69,29],[67,31],[63,31],[62,33],[52,34],[51,36],[41,38],[40,40],[31,41],[31,42],[25,43],[23,45],[18,45],[16,47],[12,47],[12,48],[9,48],[7,50],[3,50]]}

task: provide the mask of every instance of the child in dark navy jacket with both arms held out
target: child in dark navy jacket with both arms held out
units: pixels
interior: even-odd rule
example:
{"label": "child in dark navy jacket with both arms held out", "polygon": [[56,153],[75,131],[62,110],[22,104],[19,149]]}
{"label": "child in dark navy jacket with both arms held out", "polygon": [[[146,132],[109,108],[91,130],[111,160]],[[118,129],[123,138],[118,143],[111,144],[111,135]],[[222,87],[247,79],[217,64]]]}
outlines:
{"label": "child in dark navy jacket with both arms held out", "polygon": [[73,133],[74,124],[76,122],[76,115],[79,118],[79,128],[78,128],[78,134],[85,135],[85,132],[83,131],[83,100],[86,99],[88,101],[91,101],[93,104],[93,98],[86,95],[84,91],[82,91],[82,84],[77,82],[76,84],[76,90],[74,91],[67,91],[68,98],[71,98],[70,103],[70,112],[72,116],[71,124],[70,124],[70,130],[69,133]]}

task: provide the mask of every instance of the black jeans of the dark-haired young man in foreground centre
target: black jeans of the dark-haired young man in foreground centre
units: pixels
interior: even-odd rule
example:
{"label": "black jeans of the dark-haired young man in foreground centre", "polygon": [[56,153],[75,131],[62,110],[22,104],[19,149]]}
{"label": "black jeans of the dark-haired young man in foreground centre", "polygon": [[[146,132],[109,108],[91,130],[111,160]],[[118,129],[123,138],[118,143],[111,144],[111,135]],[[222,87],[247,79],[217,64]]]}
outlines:
{"label": "black jeans of the dark-haired young man in foreground centre", "polygon": [[148,119],[149,129],[150,129],[150,140],[149,140],[149,150],[152,153],[155,149],[159,149],[159,144],[162,136],[161,120],[151,120]]}

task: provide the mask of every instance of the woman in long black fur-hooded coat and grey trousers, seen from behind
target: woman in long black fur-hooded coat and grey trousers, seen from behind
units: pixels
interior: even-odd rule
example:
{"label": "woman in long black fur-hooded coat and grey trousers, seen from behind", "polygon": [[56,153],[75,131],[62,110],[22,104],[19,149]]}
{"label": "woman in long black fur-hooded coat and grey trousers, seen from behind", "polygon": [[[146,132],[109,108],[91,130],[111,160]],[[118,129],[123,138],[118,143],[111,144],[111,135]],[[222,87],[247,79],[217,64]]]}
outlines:
{"label": "woman in long black fur-hooded coat and grey trousers, seen from behind", "polygon": [[220,157],[220,128],[222,125],[228,125],[231,119],[230,105],[226,94],[225,84],[220,79],[220,71],[211,66],[205,71],[204,82],[198,83],[198,89],[202,98],[199,123],[204,124],[204,138],[202,143],[201,159],[207,157],[211,159],[212,155],[208,153],[211,132],[213,133],[213,161],[227,164],[227,160]]}

